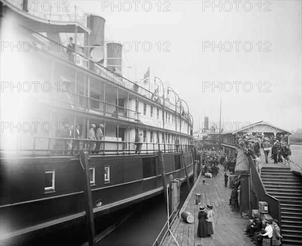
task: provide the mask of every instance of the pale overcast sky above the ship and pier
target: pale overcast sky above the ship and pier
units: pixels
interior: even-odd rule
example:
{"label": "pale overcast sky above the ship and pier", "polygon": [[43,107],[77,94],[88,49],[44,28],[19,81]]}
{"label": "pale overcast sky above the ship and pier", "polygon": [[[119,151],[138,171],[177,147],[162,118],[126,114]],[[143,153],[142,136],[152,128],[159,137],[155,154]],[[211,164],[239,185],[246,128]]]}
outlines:
{"label": "pale overcast sky above the ship and pier", "polygon": [[150,67],[152,80],[169,82],[194,130],[204,116],[219,122],[220,99],[225,129],[258,121],[301,128],[301,1],[71,2],[106,20],[105,41],[132,44],[125,77]]}

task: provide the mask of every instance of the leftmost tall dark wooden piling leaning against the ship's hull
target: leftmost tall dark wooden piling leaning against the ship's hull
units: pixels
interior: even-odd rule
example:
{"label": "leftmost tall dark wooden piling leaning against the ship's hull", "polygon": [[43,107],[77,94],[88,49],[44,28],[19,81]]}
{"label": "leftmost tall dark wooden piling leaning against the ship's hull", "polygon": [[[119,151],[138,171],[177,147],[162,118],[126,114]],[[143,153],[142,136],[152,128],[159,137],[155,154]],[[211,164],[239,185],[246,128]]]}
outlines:
{"label": "leftmost tall dark wooden piling leaning against the ship's hull", "polygon": [[92,194],[91,194],[91,186],[90,186],[88,152],[86,149],[82,149],[80,152],[80,163],[83,170],[82,177],[83,177],[88,243],[89,246],[95,246],[96,245],[95,226],[94,226]]}

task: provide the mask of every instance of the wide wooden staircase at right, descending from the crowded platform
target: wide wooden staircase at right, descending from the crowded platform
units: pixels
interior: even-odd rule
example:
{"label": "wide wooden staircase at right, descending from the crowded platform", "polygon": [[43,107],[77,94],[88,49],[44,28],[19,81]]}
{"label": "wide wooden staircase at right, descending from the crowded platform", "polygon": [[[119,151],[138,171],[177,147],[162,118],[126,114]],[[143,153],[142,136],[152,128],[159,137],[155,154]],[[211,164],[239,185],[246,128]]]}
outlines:
{"label": "wide wooden staircase at right, descending from the crowded platform", "polygon": [[289,168],[262,168],[266,192],[281,206],[282,246],[302,245],[302,182]]}

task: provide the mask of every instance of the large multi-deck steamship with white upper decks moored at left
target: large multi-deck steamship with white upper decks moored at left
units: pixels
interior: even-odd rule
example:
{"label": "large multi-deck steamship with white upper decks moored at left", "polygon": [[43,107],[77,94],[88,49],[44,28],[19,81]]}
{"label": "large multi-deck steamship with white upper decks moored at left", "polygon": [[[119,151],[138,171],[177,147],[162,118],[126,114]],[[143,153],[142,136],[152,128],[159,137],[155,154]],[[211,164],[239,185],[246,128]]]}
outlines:
{"label": "large multi-deck steamship with white upper decks moored at left", "polygon": [[[102,17],[78,8],[39,12],[30,3],[1,0],[5,242],[85,221],[81,149],[89,151],[95,218],[163,193],[159,150],[168,184],[170,175],[182,182],[193,175],[186,102],[159,78],[156,92],[123,77],[121,45],[104,47]],[[89,138],[92,125],[102,140]],[[96,143],[98,151],[90,148]]]}

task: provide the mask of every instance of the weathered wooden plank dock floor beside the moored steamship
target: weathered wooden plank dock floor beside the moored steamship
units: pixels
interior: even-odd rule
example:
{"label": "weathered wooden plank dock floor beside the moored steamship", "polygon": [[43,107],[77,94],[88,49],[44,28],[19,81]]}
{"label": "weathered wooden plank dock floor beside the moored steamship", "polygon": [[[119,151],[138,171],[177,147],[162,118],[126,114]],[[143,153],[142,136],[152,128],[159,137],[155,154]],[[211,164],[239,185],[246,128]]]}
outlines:
{"label": "weathered wooden plank dock floor beside the moored steamship", "polygon": [[[171,231],[179,245],[237,245],[248,246],[254,245],[250,241],[250,237],[243,234],[243,229],[248,224],[248,219],[241,218],[240,212],[231,211],[229,206],[229,199],[232,190],[229,187],[224,187],[224,172],[219,165],[220,171],[217,177],[205,178],[201,176],[194,184],[187,200],[180,210],[180,214],[183,211],[192,213],[195,217],[193,223],[185,222],[181,217],[177,218],[172,225]],[[229,171],[227,172],[230,176]],[[205,179],[205,185],[203,185],[203,179]],[[229,183],[228,183],[229,185]],[[211,237],[198,237],[198,208],[200,205],[195,205],[195,194],[201,194],[201,204],[213,206],[214,234]],[[168,235],[163,242],[163,245],[177,245],[171,235]]]}

